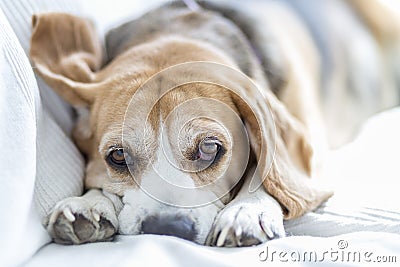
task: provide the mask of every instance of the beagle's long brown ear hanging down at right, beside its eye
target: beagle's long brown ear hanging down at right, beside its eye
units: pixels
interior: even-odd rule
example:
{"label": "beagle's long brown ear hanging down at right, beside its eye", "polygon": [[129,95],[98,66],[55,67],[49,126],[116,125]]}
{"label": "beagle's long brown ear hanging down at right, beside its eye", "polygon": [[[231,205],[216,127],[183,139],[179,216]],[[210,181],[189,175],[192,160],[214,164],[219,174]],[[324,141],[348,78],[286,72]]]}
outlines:
{"label": "beagle's long brown ear hanging down at right, beside its eye", "polygon": [[267,99],[254,97],[260,94],[251,91],[244,93],[252,101],[249,105],[238,97],[234,101],[246,124],[265,189],[279,201],[285,219],[315,209],[332,192],[310,179],[313,150],[303,125],[272,93],[265,93]]}

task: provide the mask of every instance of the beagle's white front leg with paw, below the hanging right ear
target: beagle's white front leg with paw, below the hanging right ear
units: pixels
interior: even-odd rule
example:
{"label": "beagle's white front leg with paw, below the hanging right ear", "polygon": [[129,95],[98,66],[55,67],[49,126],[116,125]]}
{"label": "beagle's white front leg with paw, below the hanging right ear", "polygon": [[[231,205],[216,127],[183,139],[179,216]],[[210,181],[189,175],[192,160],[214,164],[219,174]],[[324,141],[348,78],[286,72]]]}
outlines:
{"label": "beagle's white front leg with paw, below the hanging right ear", "polygon": [[217,215],[207,245],[253,246],[285,236],[279,203],[262,185],[250,193],[250,180],[246,177],[236,198]]}

